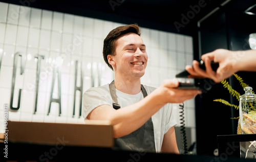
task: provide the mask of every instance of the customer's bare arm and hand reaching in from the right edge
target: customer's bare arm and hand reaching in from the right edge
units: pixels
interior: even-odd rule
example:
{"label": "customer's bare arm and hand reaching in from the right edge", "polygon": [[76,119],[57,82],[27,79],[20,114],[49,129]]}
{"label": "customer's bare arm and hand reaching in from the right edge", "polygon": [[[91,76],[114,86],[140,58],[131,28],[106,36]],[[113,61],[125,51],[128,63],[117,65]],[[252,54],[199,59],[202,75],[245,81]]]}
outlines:
{"label": "customer's bare arm and hand reaching in from the right edge", "polygon": [[[229,51],[218,49],[202,55],[202,60],[205,62],[205,71],[199,67],[196,60],[193,61],[193,66],[186,66],[186,71],[192,76],[211,78],[215,82],[221,82],[238,71],[256,72],[256,50]],[[219,68],[216,72],[212,71],[210,66],[212,60],[219,62]]]}

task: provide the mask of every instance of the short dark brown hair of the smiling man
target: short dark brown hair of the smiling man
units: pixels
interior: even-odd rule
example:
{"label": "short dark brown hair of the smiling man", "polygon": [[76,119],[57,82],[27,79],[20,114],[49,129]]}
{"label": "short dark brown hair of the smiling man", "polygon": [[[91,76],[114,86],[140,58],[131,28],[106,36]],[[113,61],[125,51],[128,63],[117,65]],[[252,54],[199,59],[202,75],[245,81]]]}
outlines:
{"label": "short dark brown hair of the smiling man", "polygon": [[140,28],[137,24],[131,24],[126,26],[120,26],[113,29],[108,36],[104,39],[103,43],[103,58],[106,64],[113,70],[113,67],[108,61],[108,55],[115,56],[116,40],[127,33],[135,33],[140,36]]}

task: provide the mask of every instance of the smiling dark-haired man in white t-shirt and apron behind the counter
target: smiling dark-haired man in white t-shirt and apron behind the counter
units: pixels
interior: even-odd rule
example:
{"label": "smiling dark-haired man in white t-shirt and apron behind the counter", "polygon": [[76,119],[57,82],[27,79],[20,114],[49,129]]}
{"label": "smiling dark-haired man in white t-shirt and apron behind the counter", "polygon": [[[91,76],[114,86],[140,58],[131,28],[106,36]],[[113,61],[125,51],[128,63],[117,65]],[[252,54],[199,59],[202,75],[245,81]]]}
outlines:
{"label": "smiling dark-haired man in white t-shirt and apron behind the counter", "polygon": [[112,30],[104,39],[103,57],[115,79],[84,92],[84,119],[111,121],[116,148],[178,154],[170,103],[182,103],[201,91],[177,89],[177,80],[165,80],[158,88],[140,83],[148,57],[137,25]]}

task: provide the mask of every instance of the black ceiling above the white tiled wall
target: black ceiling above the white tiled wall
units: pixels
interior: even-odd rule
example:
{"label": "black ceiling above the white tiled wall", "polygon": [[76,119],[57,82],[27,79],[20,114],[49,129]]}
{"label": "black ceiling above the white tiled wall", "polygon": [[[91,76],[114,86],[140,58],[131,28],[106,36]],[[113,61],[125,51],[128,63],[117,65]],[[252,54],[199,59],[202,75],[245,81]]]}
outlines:
{"label": "black ceiling above the white tiled wall", "polygon": [[[6,3],[47,9],[75,15],[88,16],[121,22],[137,23],[141,27],[191,35],[195,31],[197,21],[225,0],[0,0]],[[240,2],[246,6],[246,1]],[[255,1],[254,1],[255,2]],[[238,5],[240,6],[240,5]],[[188,14],[188,15],[187,15]],[[185,16],[190,16],[186,24],[182,23]],[[183,21],[185,22],[185,21]],[[178,25],[180,28],[175,26]],[[182,27],[181,27],[181,26]]]}

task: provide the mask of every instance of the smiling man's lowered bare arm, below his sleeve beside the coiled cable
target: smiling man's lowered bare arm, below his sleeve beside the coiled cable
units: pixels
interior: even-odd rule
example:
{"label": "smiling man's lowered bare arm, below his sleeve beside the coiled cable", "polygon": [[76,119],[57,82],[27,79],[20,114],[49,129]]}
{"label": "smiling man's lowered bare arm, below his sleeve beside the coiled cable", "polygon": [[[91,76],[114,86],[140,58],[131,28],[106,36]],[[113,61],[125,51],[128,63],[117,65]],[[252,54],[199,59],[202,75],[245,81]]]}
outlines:
{"label": "smiling man's lowered bare arm, below his sleeve beside the coiled cable", "polygon": [[171,127],[163,136],[161,152],[180,154],[175,135],[174,126]]}

